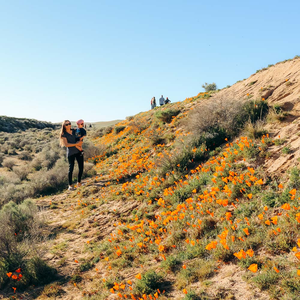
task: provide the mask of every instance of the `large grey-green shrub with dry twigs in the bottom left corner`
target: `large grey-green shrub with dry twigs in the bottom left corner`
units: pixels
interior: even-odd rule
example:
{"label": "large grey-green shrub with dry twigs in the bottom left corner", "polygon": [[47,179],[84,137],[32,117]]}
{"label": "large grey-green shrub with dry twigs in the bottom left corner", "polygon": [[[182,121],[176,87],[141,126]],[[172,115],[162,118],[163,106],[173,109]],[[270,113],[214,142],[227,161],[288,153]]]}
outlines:
{"label": "large grey-green shrub with dry twigs in the bottom left corner", "polygon": [[51,280],[53,268],[44,261],[48,251],[46,220],[38,214],[33,200],[17,205],[9,202],[0,210],[0,288],[8,280],[7,271],[23,266],[24,281],[18,284]]}

